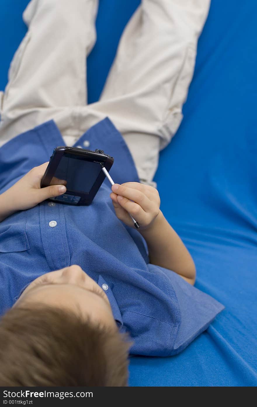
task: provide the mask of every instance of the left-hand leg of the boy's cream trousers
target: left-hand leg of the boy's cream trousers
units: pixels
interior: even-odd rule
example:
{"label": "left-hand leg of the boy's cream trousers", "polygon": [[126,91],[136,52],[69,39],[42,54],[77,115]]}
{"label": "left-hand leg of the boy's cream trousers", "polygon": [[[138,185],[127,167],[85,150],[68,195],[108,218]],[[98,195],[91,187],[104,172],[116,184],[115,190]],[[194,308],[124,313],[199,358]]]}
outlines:
{"label": "left-hand leg of the boy's cream trousers", "polygon": [[[0,144],[87,103],[86,57],[96,40],[98,0],[32,0],[28,32],[14,55],[1,104]],[[66,123],[67,122],[67,123]]]}

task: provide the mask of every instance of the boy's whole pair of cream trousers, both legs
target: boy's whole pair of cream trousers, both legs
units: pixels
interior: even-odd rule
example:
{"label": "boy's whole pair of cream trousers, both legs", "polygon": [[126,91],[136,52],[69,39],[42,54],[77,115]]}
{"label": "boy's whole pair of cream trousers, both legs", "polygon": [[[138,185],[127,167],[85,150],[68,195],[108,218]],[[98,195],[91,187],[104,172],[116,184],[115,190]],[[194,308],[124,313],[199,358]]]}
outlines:
{"label": "boy's whole pair of cream trousers, both legs", "polygon": [[28,32],[0,95],[0,146],[50,119],[72,145],[108,116],[139,178],[151,183],[159,151],[181,123],[209,3],[142,0],[120,39],[100,100],[88,105],[86,57],[96,41],[98,1],[30,1],[23,14]]}

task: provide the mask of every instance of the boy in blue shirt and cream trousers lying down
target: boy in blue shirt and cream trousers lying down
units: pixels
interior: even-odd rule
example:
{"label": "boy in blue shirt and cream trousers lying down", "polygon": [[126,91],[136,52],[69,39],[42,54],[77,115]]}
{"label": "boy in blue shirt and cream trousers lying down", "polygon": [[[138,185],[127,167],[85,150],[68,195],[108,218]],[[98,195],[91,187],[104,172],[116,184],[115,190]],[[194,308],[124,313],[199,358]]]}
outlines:
{"label": "boy in blue shirt and cream trousers lying down", "polygon": [[[29,3],[1,103],[1,385],[126,385],[128,348],[176,354],[222,310],[193,287],[194,262],[152,186],[208,5],[143,2],[100,101],[86,106],[96,1]],[[106,115],[122,136],[109,119],[97,123]],[[113,155],[111,194],[105,181],[88,207],[46,200],[65,192],[40,188],[65,143]]]}

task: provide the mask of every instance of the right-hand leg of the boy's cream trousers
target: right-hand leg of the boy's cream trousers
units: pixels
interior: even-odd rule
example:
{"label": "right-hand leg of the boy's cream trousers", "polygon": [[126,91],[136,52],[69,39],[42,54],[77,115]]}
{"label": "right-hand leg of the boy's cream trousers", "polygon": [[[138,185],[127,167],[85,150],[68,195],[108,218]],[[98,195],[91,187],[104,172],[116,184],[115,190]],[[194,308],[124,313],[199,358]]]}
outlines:
{"label": "right-hand leg of the boy's cream trousers", "polygon": [[157,169],[159,150],[181,123],[209,4],[143,0],[120,39],[100,101],[87,107],[92,116],[109,116],[126,140],[139,177],[147,181]]}

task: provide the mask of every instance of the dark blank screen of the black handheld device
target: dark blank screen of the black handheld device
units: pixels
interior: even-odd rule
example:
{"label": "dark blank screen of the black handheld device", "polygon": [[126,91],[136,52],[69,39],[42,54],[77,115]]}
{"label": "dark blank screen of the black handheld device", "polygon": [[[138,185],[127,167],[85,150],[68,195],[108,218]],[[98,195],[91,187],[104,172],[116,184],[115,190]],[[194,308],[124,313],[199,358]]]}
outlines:
{"label": "dark blank screen of the black handheld device", "polygon": [[50,184],[65,184],[60,182],[63,180],[66,181],[67,190],[89,193],[101,171],[101,165],[96,162],[85,161],[78,155],[64,154]]}

